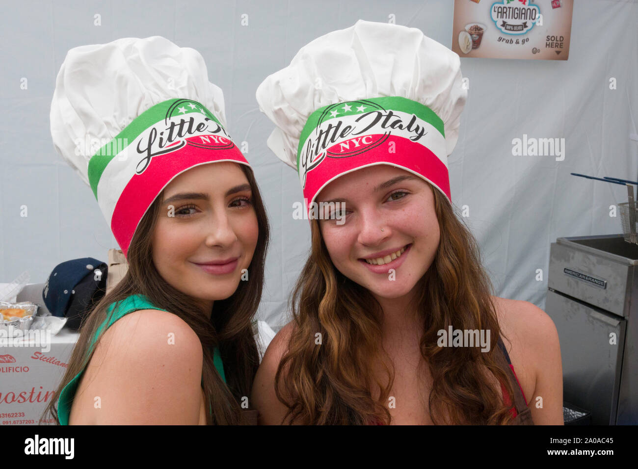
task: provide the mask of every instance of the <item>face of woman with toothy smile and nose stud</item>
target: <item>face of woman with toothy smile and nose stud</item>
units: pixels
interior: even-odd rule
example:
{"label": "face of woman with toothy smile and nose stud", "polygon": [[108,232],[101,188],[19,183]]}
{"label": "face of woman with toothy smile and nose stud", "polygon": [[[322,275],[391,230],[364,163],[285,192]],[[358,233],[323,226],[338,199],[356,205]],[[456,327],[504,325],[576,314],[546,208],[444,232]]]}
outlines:
{"label": "face of woman with toothy smile and nose stud", "polygon": [[412,295],[440,239],[427,182],[390,165],[375,165],[330,182],[316,202],[334,199],[345,202],[345,217],[319,220],[334,266],[375,297]]}

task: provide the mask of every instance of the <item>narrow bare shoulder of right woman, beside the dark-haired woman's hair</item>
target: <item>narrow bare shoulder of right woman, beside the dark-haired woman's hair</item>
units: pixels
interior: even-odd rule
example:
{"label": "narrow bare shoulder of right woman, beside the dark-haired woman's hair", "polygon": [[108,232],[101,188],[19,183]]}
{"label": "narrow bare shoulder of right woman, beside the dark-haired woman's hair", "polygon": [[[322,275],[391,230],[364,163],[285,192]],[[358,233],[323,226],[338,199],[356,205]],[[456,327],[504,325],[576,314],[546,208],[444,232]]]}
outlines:
{"label": "narrow bare shoulder of right woman, beside the dark-haired woman's hair", "polygon": [[251,400],[259,411],[259,423],[262,425],[281,424],[287,410],[275,394],[274,380],[279,362],[288,350],[293,329],[294,322],[289,322],[272,338],[255,375]]}

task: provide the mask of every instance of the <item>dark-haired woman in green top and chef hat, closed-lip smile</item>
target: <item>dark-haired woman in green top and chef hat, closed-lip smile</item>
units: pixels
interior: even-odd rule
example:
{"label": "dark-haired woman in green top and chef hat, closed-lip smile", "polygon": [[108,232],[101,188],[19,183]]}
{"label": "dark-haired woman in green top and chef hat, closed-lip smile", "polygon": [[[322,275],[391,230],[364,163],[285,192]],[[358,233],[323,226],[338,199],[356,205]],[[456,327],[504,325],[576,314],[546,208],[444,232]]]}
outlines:
{"label": "dark-haired woman in green top and chef hat, closed-lip smile", "polygon": [[[191,48],[153,36],[66,56],[54,144],[128,271],[82,324],[45,410],[59,424],[256,423],[246,404],[269,227],[224,127],[221,89]],[[89,128],[107,141],[98,151],[77,147]]]}

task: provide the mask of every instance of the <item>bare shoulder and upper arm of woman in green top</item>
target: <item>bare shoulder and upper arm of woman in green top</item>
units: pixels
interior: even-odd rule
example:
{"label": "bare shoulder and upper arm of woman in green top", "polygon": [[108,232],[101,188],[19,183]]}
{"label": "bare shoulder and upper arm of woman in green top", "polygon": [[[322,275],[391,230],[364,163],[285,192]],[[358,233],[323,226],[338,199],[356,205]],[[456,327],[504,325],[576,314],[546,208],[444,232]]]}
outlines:
{"label": "bare shoulder and upper arm of woman in green top", "polygon": [[103,334],[94,359],[89,393],[101,396],[96,423],[197,424],[202,345],[179,316],[128,313]]}

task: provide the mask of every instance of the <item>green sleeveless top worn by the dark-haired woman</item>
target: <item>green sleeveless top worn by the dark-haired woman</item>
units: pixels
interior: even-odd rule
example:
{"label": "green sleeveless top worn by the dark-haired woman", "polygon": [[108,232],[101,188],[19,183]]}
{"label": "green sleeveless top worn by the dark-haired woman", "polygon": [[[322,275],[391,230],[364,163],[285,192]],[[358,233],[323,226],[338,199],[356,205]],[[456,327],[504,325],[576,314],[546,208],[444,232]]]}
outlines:
{"label": "green sleeveless top worn by the dark-haired woman", "polygon": [[[131,295],[126,299],[119,302],[119,307],[114,314],[111,314],[113,308],[115,307],[115,303],[112,303],[107,309],[107,320],[103,322],[98,328],[96,335],[93,337],[91,341],[91,345],[89,346],[89,350],[93,350],[93,346],[95,345],[96,339],[100,336],[102,329],[104,329],[105,325],[108,329],[111,327],[115,321],[117,321],[122,316],[132,313],[133,311],[137,311],[138,309],[159,309],[159,311],[166,311],[166,309],[158,308],[154,306],[144,295]],[[226,375],[224,373],[224,365],[221,362],[221,355],[219,354],[219,349],[215,347],[213,353],[213,361],[215,364],[215,368],[217,369],[219,376],[224,383],[226,383]],[[78,383],[80,383],[80,378],[84,374],[84,370],[86,365],[80,373],[78,373],[75,378],[73,378],[66,386],[64,386],[62,392],[60,393],[60,398],[57,401],[57,416],[61,425],[69,424],[69,415],[71,414],[71,405],[73,405],[73,397],[75,396],[75,391],[77,390]]]}

